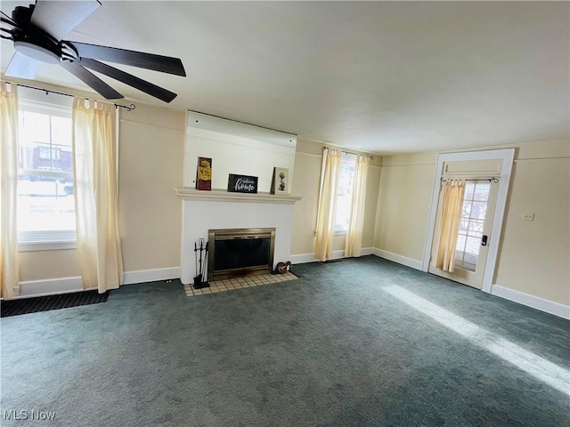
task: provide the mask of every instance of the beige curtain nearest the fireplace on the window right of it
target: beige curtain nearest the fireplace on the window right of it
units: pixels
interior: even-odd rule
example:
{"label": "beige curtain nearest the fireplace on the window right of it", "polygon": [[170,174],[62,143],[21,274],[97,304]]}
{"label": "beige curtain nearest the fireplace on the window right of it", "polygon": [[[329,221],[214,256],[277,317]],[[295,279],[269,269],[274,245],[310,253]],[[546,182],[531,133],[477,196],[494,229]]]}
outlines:
{"label": "beige curtain nearest the fireplace on the window right of it", "polygon": [[322,162],[314,255],[320,261],[327,261],[332,253],[332,238],[335,235],[340,151],[337,149],[323,149]]}

